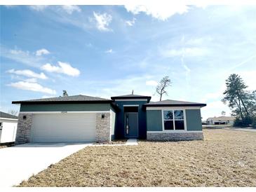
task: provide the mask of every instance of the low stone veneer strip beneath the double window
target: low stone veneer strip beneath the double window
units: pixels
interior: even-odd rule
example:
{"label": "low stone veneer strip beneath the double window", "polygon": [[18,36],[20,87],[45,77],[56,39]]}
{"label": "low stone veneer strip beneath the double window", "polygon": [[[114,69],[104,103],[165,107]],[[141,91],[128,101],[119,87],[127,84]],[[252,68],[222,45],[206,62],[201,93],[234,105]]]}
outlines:
{"label": "low stone veneer strip beneath the double window", "polygon": [[147,132],[147,139],[155,141],[203,140],[203,132]]}

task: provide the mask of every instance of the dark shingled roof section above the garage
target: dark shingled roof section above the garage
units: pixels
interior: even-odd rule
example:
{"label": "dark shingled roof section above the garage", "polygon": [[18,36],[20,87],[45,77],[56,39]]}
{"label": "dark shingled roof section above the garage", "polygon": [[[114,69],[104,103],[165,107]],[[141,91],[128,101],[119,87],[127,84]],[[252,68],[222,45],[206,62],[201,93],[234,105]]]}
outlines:
{"label": "dark shingled roof section above the garage", "polygon": [[67,97],[50,97],[39,100],[14,101],[13,104],[47,104],[47,103],[110,103],[112,100],[87,95],[73,95]]}

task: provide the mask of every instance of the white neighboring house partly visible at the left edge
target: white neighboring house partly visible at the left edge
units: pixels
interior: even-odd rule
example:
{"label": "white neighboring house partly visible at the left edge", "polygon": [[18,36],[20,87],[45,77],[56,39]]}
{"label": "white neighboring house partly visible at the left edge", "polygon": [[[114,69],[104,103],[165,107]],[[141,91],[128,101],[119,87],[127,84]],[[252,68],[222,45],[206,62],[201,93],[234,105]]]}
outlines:
{"label": "white neighboring house partly visible at the left edge", "polygon": [[18,116],[0,111],[0,143],[15,142]]}

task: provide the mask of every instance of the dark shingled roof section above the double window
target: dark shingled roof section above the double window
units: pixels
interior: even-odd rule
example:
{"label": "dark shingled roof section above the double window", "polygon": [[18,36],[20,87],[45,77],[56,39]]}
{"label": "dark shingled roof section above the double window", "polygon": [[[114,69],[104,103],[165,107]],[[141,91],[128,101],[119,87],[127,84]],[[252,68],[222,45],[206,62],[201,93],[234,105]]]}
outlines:
{"label": "dark shingled roof section above the double window", "polygon": [[204,103],[196,102],[182,102],[177,100],[163,100],[160,102],[149,102],[144,104],[145,107],[182,107],[182,106],[191,106],[191,107],[205,107]]}

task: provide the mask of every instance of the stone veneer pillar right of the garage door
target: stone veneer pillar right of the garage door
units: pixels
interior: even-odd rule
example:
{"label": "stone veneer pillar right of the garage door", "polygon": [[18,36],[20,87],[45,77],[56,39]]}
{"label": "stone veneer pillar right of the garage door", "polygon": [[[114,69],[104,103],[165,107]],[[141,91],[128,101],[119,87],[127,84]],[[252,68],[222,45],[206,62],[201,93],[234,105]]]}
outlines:
{"label": "stone veneer pillar right of the garage door", "polygon": [[[105,118],[102,118],[102,114]],[[110,113],[96,114],[96,142],[111,142]]]}

